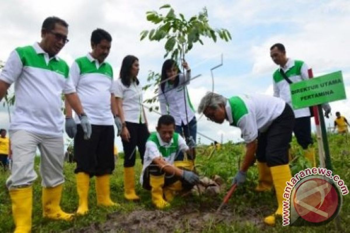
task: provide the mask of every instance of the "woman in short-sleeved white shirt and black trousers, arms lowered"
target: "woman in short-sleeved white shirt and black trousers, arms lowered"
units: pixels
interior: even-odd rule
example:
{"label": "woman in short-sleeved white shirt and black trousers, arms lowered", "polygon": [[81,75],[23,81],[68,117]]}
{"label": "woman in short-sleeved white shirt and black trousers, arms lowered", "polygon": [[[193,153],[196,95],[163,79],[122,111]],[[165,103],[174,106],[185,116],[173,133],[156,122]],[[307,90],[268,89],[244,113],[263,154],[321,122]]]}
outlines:
{"label": "woman in short-sleeved white shirt and black trousers, arms lowered", "polygon": [[140,199],[135,192],[136,146],[143,163],[149,137],[146,114],[142,106],[142,87],[137,78],[139,70],[139,59],[132,55],[126,56],[121,63],[120,77],[114,82],[113,88],[123,124],[120,136],[124,148],[124,196],[130,201]]}

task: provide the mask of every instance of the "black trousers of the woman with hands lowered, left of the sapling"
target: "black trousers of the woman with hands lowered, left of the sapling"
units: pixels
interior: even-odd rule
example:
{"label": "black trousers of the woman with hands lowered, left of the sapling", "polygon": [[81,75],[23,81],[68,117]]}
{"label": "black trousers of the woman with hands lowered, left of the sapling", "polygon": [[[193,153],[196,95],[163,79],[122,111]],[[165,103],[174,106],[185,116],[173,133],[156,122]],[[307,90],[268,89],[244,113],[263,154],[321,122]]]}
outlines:
{"label": "black trousers of the woman with hands lowered, left of the sapling", "polygon": [[125,122],[126,128],[130,133],[130,141],[121,140],[124,149],[124,167],[135,166],[136,147],[139,149],[141,162],[144,163],[144,155],[146,150],[146,142],[149,137],[149,132],[146,124],[138,124]]}

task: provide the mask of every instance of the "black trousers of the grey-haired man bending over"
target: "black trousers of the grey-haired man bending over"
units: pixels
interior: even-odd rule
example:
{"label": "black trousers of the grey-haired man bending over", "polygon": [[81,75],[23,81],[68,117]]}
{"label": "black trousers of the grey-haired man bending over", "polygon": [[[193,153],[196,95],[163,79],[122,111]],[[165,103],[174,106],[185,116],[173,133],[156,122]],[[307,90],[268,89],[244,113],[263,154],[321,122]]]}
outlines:
{"label": "black trousers of the grey-haired man bending over", "polygon": [[282,114],[272,122],[267,131],[259,133],[255,154],[259,162],[266,162],[268,167],[288,164],[294,121],[294,112],[286,104]]}

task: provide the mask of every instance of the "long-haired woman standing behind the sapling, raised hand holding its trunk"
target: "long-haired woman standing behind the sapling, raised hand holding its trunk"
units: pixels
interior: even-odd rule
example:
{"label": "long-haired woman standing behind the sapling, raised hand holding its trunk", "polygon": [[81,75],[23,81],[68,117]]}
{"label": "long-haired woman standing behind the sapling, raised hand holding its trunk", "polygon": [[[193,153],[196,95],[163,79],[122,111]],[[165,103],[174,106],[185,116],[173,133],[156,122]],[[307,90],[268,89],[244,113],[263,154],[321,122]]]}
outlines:
{"label": "long-haired woman standing behind the sapling, raised hand holding its trunk", "polygon": [[[195,110],[191,104],[186,85],[190,83],[191,70],[187,62],[182,63],[186,75],[173,59],[165,60],[162,66],[161,84],[159,85],[159,104],[162,115],[169,114],[175,119],[175,132],[189,140],[192,137],[196,140],[197,121]],[[183,153],[180,152],[175,158],[175,166],[193,169],[193,156],[187,155],[188,160],[184,161]],[[190,156],[190,158],[189,158]]]}

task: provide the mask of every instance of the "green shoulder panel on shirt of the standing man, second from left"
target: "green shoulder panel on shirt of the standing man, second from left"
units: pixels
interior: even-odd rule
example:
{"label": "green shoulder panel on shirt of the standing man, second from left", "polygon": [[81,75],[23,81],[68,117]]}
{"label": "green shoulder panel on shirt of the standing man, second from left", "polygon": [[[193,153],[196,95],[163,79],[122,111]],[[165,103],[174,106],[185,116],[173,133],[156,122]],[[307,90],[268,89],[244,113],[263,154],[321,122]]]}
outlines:
{"label": "green shoulder panel on shirt of the standing man, second from left", "polygon": [[80,74],[103,74],[107,78],[113,80],[113,69],[109,63],[103,63],[99,68],[96,67],[94,61],[90,61],[86,56],[77,58],[75,62],[79,66]]}

